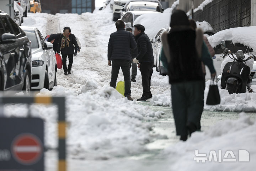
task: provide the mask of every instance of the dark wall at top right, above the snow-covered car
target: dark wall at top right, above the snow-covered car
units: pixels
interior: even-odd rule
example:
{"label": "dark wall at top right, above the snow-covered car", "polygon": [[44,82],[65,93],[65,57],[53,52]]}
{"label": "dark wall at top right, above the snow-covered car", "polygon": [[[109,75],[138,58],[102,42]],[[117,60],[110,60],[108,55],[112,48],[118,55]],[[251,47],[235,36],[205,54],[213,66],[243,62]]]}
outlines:
{"label": "dark wall at top right, above the snow-covered car", "polygon": [[213,0],[195,12],[194,19],[209,22],[215,32],[251,26],[251,0]]}

